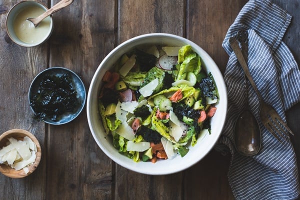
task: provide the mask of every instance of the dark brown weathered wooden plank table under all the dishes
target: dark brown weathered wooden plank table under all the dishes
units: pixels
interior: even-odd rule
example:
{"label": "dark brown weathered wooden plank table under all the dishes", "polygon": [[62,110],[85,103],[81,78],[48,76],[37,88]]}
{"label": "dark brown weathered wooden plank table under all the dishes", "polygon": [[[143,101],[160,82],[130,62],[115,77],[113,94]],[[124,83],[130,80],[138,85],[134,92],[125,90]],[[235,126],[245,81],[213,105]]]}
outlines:
{"label": "dark brown weathered wooden plank table under all the dishes", "polygon": [[[115,164],[100,150],[85,110],[64,125],[37,122],[32,119],[27,92],[34,76],[51,66],[73,70],[88,89],[110,50],[150,32],[194,41],[224,72],[228,55],[221,42],[247,0],[74,0],[53,14],[54,30],[47,42],[32,48],[14,44],[5,31],[5,8],[18,1],[0,0],[0,132],[31,131],[41,144],[42,158],[26,178],[0,174],[0,199],[233,199],[226,175],[229,155],[211,150],[182,172],[139,174]],[[48,6],[58,1],[42,0]],[[300,64],[300,0],[272,1],[293,16],[284,41]],[[300,158],[300,103],[286,113]]]}

